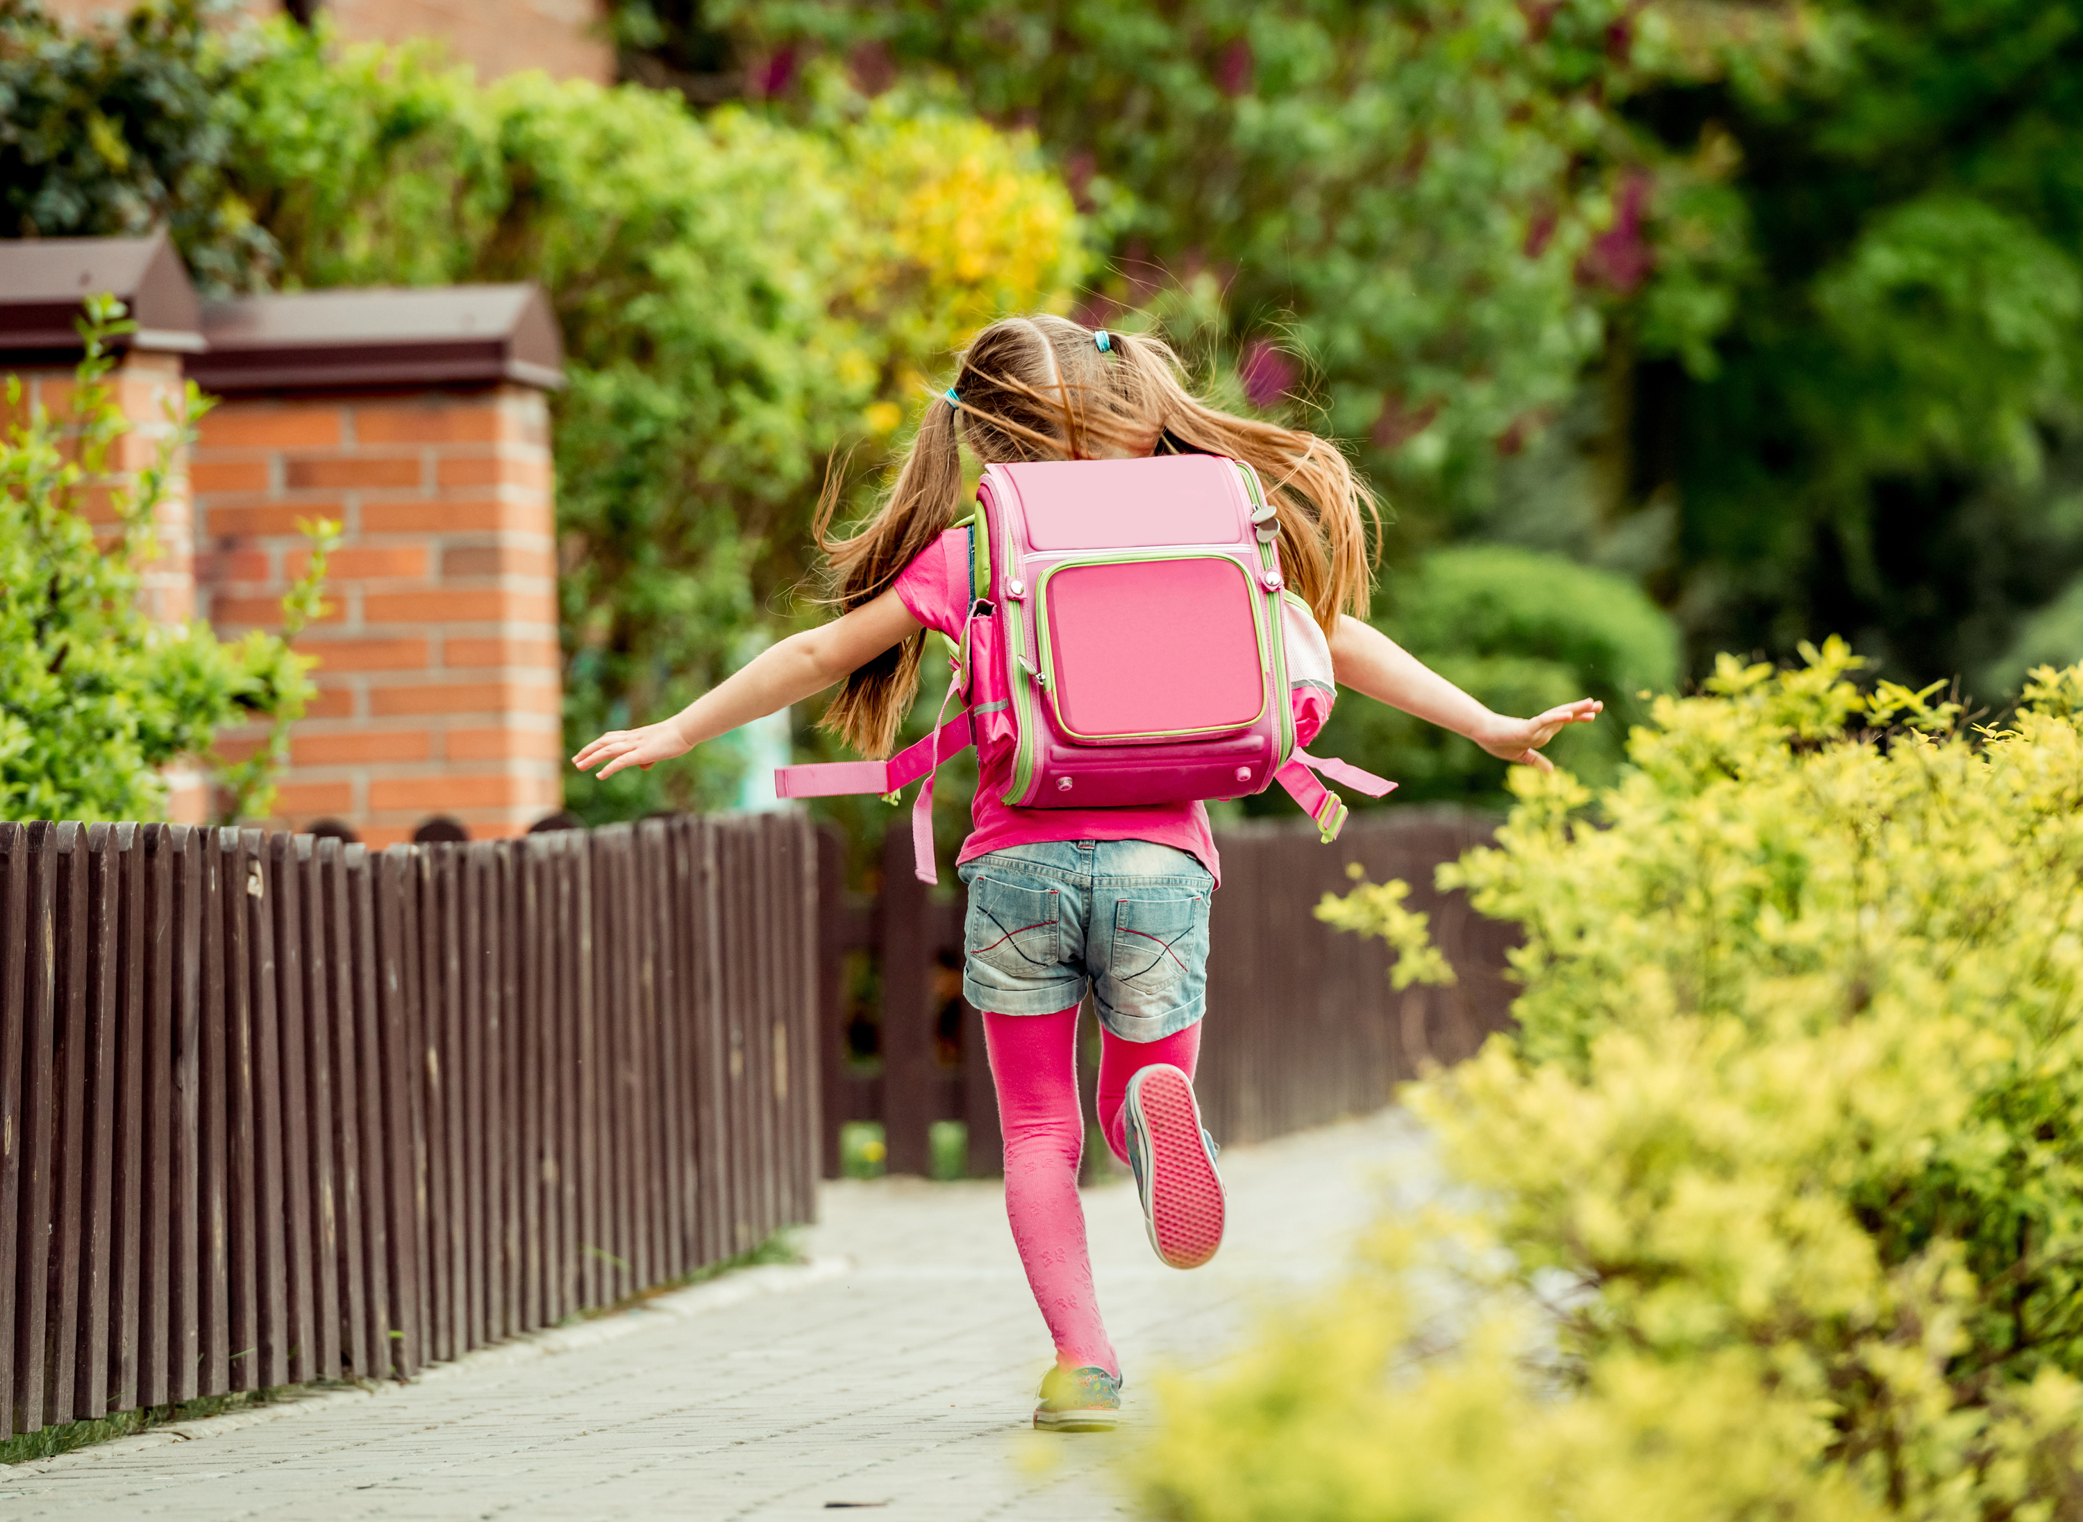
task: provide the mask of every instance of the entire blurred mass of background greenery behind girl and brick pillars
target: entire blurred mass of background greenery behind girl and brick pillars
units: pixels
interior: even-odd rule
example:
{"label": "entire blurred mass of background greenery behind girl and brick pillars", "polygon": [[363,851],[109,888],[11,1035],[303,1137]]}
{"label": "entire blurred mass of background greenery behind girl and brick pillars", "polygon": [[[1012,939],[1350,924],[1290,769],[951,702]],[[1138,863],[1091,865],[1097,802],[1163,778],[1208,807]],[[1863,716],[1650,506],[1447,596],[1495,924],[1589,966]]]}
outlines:
{"label": "entire blurred mass of background greenery behind girl and brick pillars", "polygon": [[[323,12],[83,35],[0,0],[0,235],[165,221],[219,289],[552,291],[575,741],[814,618],[825,468],[864,502],[950,348],[1033,306],[1339,437],[1394,508],[1381,625],[1498,706],[1627,720],[1827,631],[1981,706],[2083,656],[2083,2],[617,0],[612,31],[644,83],[481,85]],[[1400,797],[1498,795],[1352,708],[1327,745]],[[1604,781],[1618,741],[1566,760]]]}

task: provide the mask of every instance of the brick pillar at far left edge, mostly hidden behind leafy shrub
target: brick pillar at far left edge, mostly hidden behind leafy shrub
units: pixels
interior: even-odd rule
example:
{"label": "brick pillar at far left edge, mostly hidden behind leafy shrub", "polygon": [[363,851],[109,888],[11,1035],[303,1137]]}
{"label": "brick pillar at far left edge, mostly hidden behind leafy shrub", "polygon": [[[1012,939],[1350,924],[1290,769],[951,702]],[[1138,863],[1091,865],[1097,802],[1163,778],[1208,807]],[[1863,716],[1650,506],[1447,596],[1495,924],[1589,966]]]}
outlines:
{"label": "brick pillar at far left edge, mostly hidden behind leafy shrub", "polygon": [[[54,418],[71,416],[73,371],[67,369],[12,369],[23,381],[21,408],[42,406]],[[104,539],[115,537],[117,514],[110,491],[131,485],[135,473],[158,458],[167,435],[179,416],[183,379],[181,358],[175,354],[125,354],[108,375],[123,416],[129,418],[129,433],[117,446],[110,475],[90,485],[79,506]],[[4,406],[4,402],[0,402]],[[169,412],[171,410],[171,412]],[[144,581],[144,606],[160,620],[177,623],[196,612],[196,558],[194,558],[194,510],[190,502],[187,452],[175,452],[175,471],[167,496],[158,504],[158,558],[140,568]],[[169,818],[179,825],[200,825],[208,818],[208,789],[202,772],[192,764],[175,764],[167,770]]]}

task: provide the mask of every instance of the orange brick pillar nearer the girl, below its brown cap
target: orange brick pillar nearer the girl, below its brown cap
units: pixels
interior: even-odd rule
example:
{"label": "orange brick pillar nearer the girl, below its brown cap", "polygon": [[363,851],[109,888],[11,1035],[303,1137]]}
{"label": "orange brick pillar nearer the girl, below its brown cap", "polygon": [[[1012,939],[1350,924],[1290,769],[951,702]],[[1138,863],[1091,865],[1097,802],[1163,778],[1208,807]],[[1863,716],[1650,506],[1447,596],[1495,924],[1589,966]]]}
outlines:
{"label": "orange brick pillar nearer the girl, below its brown cap", "polygon": [[194,460],[200,585],[221,635],[279,627],[298,518],[342,523],[319,697],[277,818],[371,845],[429,816],[517,835],[562,802],[550,423],[542,391],[235,398]]}

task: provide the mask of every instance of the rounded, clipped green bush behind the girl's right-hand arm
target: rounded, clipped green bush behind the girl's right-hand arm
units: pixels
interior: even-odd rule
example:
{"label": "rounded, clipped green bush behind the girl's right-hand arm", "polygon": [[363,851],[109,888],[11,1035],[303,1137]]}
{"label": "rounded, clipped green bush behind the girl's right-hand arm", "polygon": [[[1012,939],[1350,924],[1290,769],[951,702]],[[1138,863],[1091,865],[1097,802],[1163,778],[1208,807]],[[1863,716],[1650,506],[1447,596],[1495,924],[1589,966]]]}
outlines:
{"label": "rounded, clipped green bush behind the girl's right-hand arm", "polygon": [[[1398,643],[1504,714],[1602,697],[1596,725],[1573,725],[1550,754],[1591,783],[1618,775],[1646,693],[1679,679],[1679,633],[1635,583],[1562,556],[1512,546],[1433,550],[1387,577],[1377,623]],[[1506,766],[1473,741],[1410,714],[1348,697],[1323,754],[1396,779],[1389,804],[1502,804]],[[1354,806],[1369,800],[1352,797]]]}

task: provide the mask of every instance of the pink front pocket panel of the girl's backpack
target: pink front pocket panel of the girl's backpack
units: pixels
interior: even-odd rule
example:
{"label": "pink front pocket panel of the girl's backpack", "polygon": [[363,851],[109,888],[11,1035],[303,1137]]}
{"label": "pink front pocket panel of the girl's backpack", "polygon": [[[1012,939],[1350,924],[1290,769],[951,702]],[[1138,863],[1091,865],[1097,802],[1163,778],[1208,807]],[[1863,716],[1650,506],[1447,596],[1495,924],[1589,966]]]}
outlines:
{"label": "pink front pocket panel of the girl's backpack", "polygon": [[1221,554],[1066,560],[1037,587],[1042,685],[1087,745],[1248,729],[1266,708],[1252,573]]}

